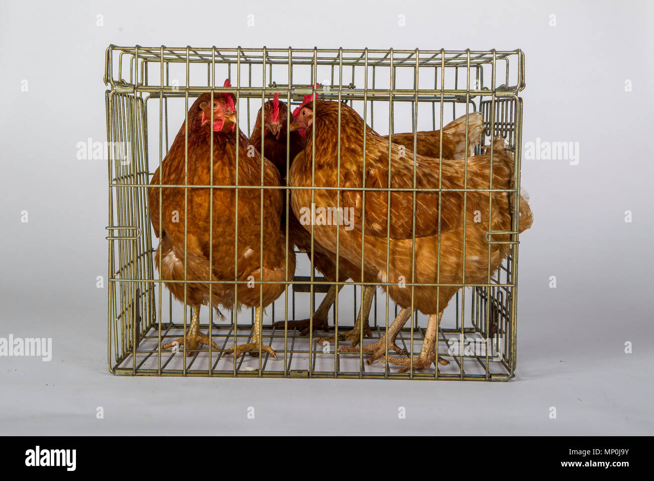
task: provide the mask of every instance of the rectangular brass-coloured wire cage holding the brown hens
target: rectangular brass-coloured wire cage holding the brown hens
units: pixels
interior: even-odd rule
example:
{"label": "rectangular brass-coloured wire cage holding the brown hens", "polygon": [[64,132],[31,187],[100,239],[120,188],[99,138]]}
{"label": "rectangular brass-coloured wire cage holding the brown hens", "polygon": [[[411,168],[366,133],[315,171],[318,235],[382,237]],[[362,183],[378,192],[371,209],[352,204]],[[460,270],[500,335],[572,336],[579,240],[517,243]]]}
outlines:
{"label": "rectangular brass-coloured wire cage holding the brown hens", "polygon": [[[223,86],[226,78],[232,86]],[[521,50],[111,45],[104,81],[109,179],[107,357],[112,374],[490,381],[515,376],[523,111],[519,92],[525,88]],[[398,373],[389,363],[368,365],[363,350],[338,351],[349,342],[318,343],[324,332],[303,335],[298,328],[273,327],[277,321],[313,319],[320,300],[337,284],[313,269],[311,252],[301,251],[296,251],[294,278],[264,314],[262,343],[277,351],[279,361],[265,351],[236,360],[227,355],[228,347],[251,338],[254,308],[228,312],[225,317],[203,308],[199,327],[218,349],[189,349],[187,356],[184,347],[162,347],[184,335],[192,312],[167,291],[167,279],[155,268],[156,232],[150,224],[147,189],[188,108],[203,92],[233,93],[237,124],[247,136],[257,112],[274,94],[289,105],[289,112],[303,96],[316,94],[353,107],[372,129],[390,134],[391,139],[398,132],[436,131],[461,115],[466,115],[467,126],[473,113],[483,118],[474,154],[485,152],[484,146],[498,135],[506,139],[506,149],[515,160],[511,188],[506,190],[513,206],[513,227],[505,241],[509,253],[498,268],[489,269],[485,282],[458,286],[443,313],[436,348],[449,365],[432,363],[430,368]],[[288,211],[290,196],[288,189],[285,192]],[[362,283],[343,285],[330,310],[330,334],[351,329],[362,304]],[[359,346],[382,338],[399,310],[387,292],[377,289],[369,318],[372,335],[362,337]],[[411,356],[420,351],[426,323],[427,316],[415,311],[398,334],[396,342]]]}

